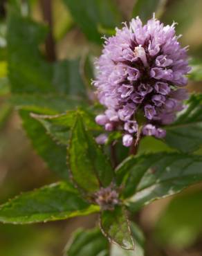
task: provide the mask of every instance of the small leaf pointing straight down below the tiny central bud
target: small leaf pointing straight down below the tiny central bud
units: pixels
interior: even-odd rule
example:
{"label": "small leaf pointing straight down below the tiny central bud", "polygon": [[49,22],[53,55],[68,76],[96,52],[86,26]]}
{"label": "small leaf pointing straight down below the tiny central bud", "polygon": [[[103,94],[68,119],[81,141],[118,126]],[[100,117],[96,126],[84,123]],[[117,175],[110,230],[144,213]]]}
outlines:
{"label": "small leaf pointing straight down below the tiny central bud", "polygon": [[125,250],[134,250],[129,221],[121,205],[116,205],[114,210],[104,210],[100,213],[100,227],[110,242]]}

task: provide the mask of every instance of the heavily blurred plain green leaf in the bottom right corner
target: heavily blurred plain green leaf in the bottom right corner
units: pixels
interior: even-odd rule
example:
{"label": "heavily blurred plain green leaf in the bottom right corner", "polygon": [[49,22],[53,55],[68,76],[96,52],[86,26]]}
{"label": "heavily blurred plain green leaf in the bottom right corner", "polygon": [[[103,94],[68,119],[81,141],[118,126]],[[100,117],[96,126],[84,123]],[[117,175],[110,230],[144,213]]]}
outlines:
{"label": "heavily blurred plain green leaf in the bottom right corner", "polygon": [[192,246],[202,231],[201,208],[201,190],[186,191],[174,197],[156,222],[156,239],[174,248]]}

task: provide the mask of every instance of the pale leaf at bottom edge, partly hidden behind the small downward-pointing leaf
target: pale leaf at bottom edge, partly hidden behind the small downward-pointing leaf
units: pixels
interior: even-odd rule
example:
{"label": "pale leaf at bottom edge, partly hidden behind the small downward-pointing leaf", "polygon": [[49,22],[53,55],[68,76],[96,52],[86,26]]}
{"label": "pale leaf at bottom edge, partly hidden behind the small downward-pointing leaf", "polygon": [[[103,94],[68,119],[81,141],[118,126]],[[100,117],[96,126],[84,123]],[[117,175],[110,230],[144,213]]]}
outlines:
{"label": "pale leaf at bottom edge, partly hidden behind the small downward-pointing leaf", "polygon": [[131,235],[134,238],[135,250],[124,250],[116,244],[111,244],[110,256],[144,256],[145,237],[143,231],[135,224],[131,223]]}

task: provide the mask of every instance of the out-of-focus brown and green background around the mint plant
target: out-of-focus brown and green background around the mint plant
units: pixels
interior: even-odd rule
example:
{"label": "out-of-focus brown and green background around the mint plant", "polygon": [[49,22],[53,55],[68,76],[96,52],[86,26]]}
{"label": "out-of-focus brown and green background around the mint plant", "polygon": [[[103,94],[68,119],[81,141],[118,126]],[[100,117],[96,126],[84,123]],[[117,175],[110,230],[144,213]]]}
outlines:
{"label": "out-of-focus brown and green background around the mint plant", "polygon": [[[75,3],[77,0],[72,0]],[[113,1],[113,0],[112,0]],[[42,51],[48,61],[81,58],[81,66],[86,58],[100,54],[101,46],[89,41],[77,26],[71,11],[62,0],[21,1],[30,15],[42,23],[50,25],[48,45]],[[89,1],[83,1],[89,8]],[[108,15],[105,24],[117,24],[128,21],[134,8],[135,0],[114,0],[114,6],[120,16],[116,21]],[[150,0],[145,2],[145,12]],[[202,60],[202,1],[168,0],[161,1],[158,13],[165,24],[176,21],[177,34],[182,34],[181,44],[189,45],[189,54]],[[6,17],[8,1],[0,1],[0,203],[25,192],[39,188],[57,178],[48,170],[44,161],[37,156],[30,141],[21,128],[21,120],[10,104],[5,104],[9,95],[6,79]],[[86,5],[86,6],[85,6]],[[51,8],[50,8],[51,7]],[[100,6],[101,8],[101,6]],[[26,10],[25,10],[26,11]],[[105,11],[104,9],[102,10]],[[144,17],[144,10],[140,16]],[[104,18],[105,19],[105,18]],[[84,21],[85,22],[85,21]],[[113,33],[112,28],[100,26],[101,33]],[[31,57],[31,56],[30,56]],[[197,66],[196,66],[197,68]],[[200,66],[198,67],[200,68]],[[89,68],[90,69],[90,68]],[[80,69],[84,82],[89,76]],[[202,92],[201,82],[190,82],[190,92]],[[163,143],[147,138],[140,145],[142,151],[168,150]],[[202,149],[199,150],[202,154]],[[146,255],[149,256],[201,256],[202,255],[202,185],[189,188],[177,196],[156,201],[136,216],[146,237]],[[63,255],[71,234],[78,227],[91,228],[96,224],[96,216],[77,217],[54,223],[41,223],[28,226],[0,224],[0,256],[60,256]],[[84,255],[88,256],[88,255]]]}

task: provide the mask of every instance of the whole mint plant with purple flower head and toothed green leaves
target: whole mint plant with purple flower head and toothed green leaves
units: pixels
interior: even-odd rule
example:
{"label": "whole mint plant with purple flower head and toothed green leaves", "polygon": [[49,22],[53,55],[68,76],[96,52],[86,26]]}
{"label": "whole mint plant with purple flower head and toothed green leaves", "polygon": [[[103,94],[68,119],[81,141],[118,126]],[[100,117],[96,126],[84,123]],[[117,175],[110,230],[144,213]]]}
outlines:
{"label": "whole mint plant with purple flower head and toothed green leaves", "polygon": [[[96,15],[77,2],[64,0],[89,41],[100,45],[103,30],[120,26],[111,1],[86,1]],[[142,12],[140,1],[135,8],[134,13]],[[103,10],[111,19],[104,18]],[[144,255],[143,232],[131,216],[202,181],[197,154],[202,95],[188,96],[181,89],[187,77],[200,79],[201,68],[190,71],[187,48],[178,44],[174,24],[163,26],[155,17],[147,25],[136,18],[107,37],[95,64],[98,71],[89,75],[85,70],[85,81],[80,60],[45,60],[39,45],[46,33],[45,26],[22,12],[21,3],[10,1],[10,92],[2,91],[8,109],[19,111],[37,154],[61,181],[3,203],[0,221],[27,224],[98,213],[98,227],[77,230],[66,255]],[[162,140],[169,150],[139,152],[145,136]]]}

